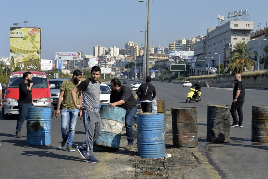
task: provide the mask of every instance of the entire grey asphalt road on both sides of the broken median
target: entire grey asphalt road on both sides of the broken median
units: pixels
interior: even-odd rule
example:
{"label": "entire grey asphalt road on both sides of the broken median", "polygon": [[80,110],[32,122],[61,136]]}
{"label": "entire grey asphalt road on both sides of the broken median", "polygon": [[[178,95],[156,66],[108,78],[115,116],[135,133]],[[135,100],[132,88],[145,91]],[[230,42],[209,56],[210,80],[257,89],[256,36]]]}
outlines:
{"label": "entire grey asphalt road on both sides of the broken median", "polygon": [[[127,81],[127,86],[130,87],[132,83]],[[246,89],[243,128],[230,128],[230,142],[212,144],[206,142],[207,105],[231,105],[232,89],[202,87],[202,101],[186,103],[188,87],[154,81],[152,84],[157,89],[157,98],[166,101],[169,112],[173,107],[196,107],[198,151],[210,162],[221,178],[267,178],[268,143],[251,142],[251,106],[268,106],[268,91]],[[134,95],[135,93],[133,92]],[[127,145],[124,129],[120,143],[123,147],[118,151],[94,148],[94,156],[101,160],[96,165],[86,163],[78,152],[66,152],[66,147],[64,150],[58,149],[61,142],[60,118],[55,116],[52,118],[52,144],[49,146],[26,145],[26,121],[23,124],[23,138],[15,138],[16,119],[14,116],[14,120],[4,120],[0,115],[0,178],[113,178],[114,176],[133,178],[134,176],[134,167],[125,161],[131,160],[136,153],[123,149]],[[231,116],[230,123],[232,124]],[[84,137],[83,122],[78,119],[73,147],[80,145]],[[202,173],[209,172],[201,163],[188,172],[186,178],[204,178],[200,176]]]}

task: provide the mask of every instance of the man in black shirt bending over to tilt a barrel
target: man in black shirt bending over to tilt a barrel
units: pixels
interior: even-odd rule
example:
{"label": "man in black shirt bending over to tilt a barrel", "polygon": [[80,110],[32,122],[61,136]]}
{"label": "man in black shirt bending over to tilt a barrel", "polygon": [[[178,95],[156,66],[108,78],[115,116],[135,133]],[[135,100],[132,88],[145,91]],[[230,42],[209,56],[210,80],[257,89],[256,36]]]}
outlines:
{"label": "man in black shirt bending over to tilt a barrel", "polygon": [[121,85],[121,82],[117,78],[111,80],[111,89],[109,105],[111,107],[118,106],[127,110],[125,115],[125,127],[128,144],[125,149],[131,150],[134,146],[132,126],[138,109],[137,100],[134,98],[129,87]]}

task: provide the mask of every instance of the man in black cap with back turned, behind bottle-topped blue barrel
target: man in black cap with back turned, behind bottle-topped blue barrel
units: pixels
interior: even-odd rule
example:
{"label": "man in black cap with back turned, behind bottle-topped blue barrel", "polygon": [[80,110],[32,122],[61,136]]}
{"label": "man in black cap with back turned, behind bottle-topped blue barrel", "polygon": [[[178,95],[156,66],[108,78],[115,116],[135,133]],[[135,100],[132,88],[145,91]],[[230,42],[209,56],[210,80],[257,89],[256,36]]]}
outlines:
{"label": "man in black cap with back turned, behind bottle-topped blue barrel", "polygon": [[[147,76],[145,82],[139,86],[136,94],[141,100],[142,112],[151,112],[152,100],[155,98],[155,87],[151,84],[151,77]],[[153,95],[153,97],[152,97]]]}

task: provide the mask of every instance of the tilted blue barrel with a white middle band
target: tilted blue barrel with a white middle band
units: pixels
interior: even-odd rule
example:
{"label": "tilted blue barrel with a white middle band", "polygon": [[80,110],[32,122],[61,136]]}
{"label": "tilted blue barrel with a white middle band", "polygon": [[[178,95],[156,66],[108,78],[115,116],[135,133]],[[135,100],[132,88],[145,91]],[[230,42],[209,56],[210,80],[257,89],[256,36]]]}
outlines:
{"label": "tilted blue barrel with a white middle band", "polygon": [[117,106],[101,105],[101,134],[94,141],[95,146],[115,150],[119,149],[126,112],[125,109]]}

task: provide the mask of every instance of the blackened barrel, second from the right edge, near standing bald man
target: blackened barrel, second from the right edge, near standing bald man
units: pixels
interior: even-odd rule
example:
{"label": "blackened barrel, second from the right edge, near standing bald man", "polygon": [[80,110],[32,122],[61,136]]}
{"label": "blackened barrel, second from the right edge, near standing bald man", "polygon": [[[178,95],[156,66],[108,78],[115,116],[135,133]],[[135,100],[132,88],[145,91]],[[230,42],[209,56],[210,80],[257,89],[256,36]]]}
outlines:
{"label": "blackened barrel, second from the right edge, near standing bald man", "polygon": [[230,106],[208,105],[207,142],[221,143],[230,140]]}

